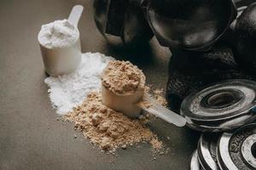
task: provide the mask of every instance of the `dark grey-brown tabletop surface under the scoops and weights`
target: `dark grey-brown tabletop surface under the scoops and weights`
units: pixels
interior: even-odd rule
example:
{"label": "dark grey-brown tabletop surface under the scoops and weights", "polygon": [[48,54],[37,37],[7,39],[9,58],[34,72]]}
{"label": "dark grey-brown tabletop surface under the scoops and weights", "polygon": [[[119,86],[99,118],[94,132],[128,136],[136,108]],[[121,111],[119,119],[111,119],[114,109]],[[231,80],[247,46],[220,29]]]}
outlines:
{"label": "dark grey-brown tabletop surface under the scoops and weights", "polygon": [[143,69],[154,88],[166,88],[168,49],[160,48],[155,39],[137,50],[109,47],[96,30],[91,0],[1,0],[0,169],[188,169],[199,133],[187,127],[150,123],[170,148],[153,161],[149,144],[117,150],[118,157],[101,155],[72,123],[55,121],[37,35],[42,24],[67,18],[77,3],[84,5],[79,25],[83,52],[129,59]]}

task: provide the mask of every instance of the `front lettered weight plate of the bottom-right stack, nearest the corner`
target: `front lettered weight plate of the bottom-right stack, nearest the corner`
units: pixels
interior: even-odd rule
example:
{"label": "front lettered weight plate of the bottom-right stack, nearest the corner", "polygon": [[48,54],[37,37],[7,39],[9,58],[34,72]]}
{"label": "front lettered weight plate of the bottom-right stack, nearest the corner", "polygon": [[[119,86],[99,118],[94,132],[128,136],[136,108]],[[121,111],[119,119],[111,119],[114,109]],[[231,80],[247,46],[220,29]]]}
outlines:
{"label": "front lettered weight plate of the bottom-right stack, nearest the corner", "polygon": [[222,170],[256,169],[256,123],[223,133],[218,142],[218,164]]}

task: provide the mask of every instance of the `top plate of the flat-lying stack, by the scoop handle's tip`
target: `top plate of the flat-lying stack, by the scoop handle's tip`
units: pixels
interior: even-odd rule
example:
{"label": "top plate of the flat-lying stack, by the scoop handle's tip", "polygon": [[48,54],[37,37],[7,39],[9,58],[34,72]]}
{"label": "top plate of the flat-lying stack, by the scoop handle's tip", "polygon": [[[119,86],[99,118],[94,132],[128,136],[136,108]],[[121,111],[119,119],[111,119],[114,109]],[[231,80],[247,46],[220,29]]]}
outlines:
{"label": "top plate of the flat-lying stack, by the scoop handle's tip", "polygon": [[183,100],[181,112],[197,121],[219,121],[239,116],[256,105],[256,82],[218,82]]}

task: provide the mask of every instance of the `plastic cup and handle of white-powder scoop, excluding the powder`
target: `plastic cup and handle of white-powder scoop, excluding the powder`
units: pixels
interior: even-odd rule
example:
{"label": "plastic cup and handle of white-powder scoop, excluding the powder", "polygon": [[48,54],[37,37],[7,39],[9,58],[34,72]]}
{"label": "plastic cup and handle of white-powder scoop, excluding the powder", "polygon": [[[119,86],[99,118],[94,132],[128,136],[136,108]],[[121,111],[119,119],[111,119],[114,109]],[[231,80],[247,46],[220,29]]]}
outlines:
{"label": "plastic cup and handle of white-powder scoop, excluding the powder", "polygon": [[[68,21],[73,24],[76,29],[83,9],[84,7],[81,5],[74,6],[68,17]],[[49,48],[44,46],[44,43],[41,41],[38,35],[38,42],[44,60],[44,68],[50,76],[58,77],[69,74],[77,69],[82,54],[80,37],[78,37],[75,42],[65,47]]]}

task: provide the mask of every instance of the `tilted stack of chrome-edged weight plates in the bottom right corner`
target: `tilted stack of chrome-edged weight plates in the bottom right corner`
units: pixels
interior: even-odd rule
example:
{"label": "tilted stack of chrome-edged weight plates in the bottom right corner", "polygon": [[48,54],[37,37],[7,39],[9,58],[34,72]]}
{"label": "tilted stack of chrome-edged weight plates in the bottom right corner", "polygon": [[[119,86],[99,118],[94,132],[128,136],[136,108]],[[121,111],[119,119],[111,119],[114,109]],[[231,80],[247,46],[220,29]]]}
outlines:
{"label": "tilted stack of chrome-edged weight plates in the bottom right corner", "polygon": [[256,123],[230,133],[202,133],[191,170],[255,170]]}

